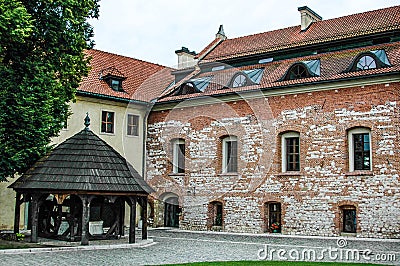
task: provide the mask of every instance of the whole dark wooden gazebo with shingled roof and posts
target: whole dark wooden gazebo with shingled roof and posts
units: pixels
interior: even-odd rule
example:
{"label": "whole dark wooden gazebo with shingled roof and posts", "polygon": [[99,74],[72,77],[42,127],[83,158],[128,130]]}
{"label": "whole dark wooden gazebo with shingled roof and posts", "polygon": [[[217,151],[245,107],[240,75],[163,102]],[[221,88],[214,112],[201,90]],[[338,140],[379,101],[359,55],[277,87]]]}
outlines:
{"label": "whole dark wooden gazebo with shingled roof and posts", "polygon": [[126,202],[130,206],[129,243],[135,242],[136,203],[142,207],[142,239],[147,239],[147,202],[153,189],[89,125],[87,116],[81,132],[59,144],[10,185],[17,193],[16,233],[20,205],[30,202],[32,242],[43,236],[88,245],[89,239],[120,237]]}

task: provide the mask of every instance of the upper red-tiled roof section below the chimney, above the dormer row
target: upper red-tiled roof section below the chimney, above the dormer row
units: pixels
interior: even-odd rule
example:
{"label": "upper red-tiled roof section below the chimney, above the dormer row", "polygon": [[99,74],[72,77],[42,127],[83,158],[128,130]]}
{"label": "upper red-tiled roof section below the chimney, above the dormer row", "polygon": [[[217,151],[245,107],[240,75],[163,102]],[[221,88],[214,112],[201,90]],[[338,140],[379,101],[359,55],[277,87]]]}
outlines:
{"label": "upper red-tiled roof section below the chimney, above the dormer row", "polygon": [[[301,31],[300,26],[294,26],[227,39],[217,45],[203,60],[232,59],[389,30],[400,30],[400,6],[314,22],[306,31]],[[203,55],[206,49],[207,47],[200,55]]]}

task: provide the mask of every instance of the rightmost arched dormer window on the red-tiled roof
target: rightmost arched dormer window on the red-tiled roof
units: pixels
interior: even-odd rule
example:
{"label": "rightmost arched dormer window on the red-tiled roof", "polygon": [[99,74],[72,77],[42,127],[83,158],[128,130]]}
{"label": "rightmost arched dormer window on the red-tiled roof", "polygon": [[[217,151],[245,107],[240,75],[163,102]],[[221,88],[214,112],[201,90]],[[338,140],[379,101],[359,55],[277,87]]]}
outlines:
{"label": "rightmost arched dormer window on the red-tiled roof", "polygon": [[359,54],[348,71],[362,71],[390,66],[385,50]]}

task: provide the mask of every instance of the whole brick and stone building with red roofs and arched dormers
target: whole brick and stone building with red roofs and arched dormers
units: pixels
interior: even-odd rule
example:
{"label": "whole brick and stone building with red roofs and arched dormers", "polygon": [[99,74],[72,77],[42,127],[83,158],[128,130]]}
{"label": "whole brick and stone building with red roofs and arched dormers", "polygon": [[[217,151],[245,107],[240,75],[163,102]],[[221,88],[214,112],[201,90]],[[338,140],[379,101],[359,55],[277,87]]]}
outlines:
{"label": "whole brick and stone building with red roofs and arched dormers", "polygon": [[400,6],[299,11],[285,29],[220,27],[172,72],[148,118],[156,225],[400,237]]}

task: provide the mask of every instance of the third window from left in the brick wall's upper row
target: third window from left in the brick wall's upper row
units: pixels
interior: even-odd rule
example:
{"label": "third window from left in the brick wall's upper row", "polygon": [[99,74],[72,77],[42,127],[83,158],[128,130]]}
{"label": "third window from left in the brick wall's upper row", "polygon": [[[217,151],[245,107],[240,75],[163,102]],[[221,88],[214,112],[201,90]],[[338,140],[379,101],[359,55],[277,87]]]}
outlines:
{"label": "third window from left in the brick wall's upper row", "polygon": [[282,135],[282,172],[300,171],[300,134]]}

